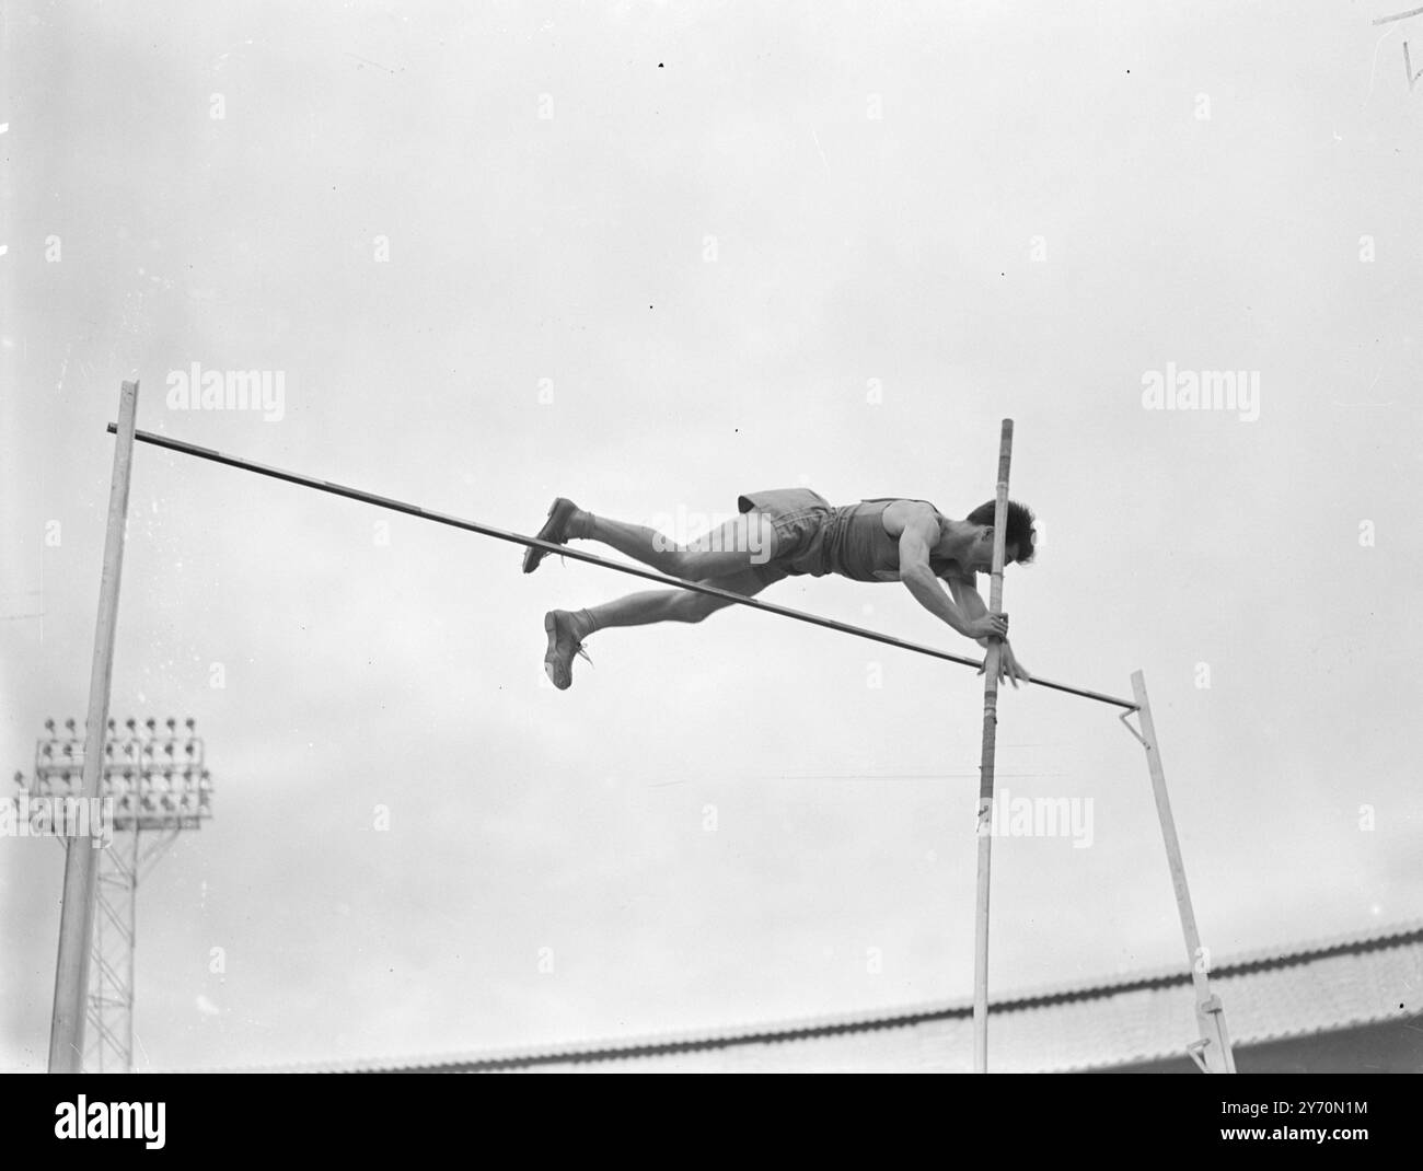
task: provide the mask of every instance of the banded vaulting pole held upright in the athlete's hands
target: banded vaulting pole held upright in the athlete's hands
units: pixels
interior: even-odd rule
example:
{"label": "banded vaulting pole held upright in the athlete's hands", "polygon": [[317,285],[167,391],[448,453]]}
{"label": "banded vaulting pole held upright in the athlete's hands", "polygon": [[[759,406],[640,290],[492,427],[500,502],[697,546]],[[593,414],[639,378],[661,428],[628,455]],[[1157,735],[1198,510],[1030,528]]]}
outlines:
{"label": "banded vaulting pole held upright in the athlete's hands", "polygon": [[[1003,558],[1007,544],[1007,468],[1013,460],[1013,420],[1003,420],[998,445],[998,498],[993,502],[993,576],[989,613],[1003,609]],[[988,889],[993,861],[993,751],[998,744],[998,672],[1002,640],[988,640],[983,660],[983,760],[979,765],[978,909],[973,915],[973,1071],[988,1073]]]}

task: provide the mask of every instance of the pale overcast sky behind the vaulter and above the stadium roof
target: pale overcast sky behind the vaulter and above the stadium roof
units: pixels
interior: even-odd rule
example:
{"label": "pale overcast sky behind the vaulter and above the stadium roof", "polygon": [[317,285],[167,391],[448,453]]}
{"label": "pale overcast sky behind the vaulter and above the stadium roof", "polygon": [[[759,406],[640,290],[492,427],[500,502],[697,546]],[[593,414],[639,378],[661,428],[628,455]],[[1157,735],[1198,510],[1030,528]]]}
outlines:
{"label": "pale overcast sky behind the vaulter and above the stadium roof", "polygon": [[[148,430],[521,531],[795,484],[962,515],[1010,415],[1015,646],[1147,672],[1207,943],[1423,913],[1423,18],[462,7],[10,7],[4,773],[85,706],[125,377]],[[282,371],[283,417],[169,410],[194,361]],[[1144,410],[1167,363],[1258,371],[1259,418]],[[196,717],[218,785],[139,899],[139,1067],[970,993],[972,672],[737,610],[601,633],[561,694],[544,610],[636,583],[151,448],[131,518],[112,711]],[[966,646],[896,586],[767,598]],[[1000,716],[1000,787],[1094,838],[998,844],[993,987],[1177,962],[1114,710]],[[0,1067],[41,1069],[60,851],[0,875]]]}

